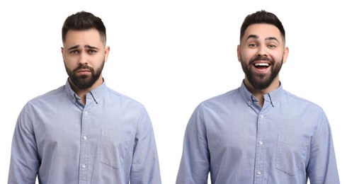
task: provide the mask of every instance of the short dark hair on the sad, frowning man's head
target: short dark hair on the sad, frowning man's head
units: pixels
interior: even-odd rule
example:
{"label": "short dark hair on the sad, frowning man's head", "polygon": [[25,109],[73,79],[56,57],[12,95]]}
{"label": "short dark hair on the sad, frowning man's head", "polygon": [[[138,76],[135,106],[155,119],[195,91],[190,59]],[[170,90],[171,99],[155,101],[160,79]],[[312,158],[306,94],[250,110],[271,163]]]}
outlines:
{"label": "short dark hair on the sad, frowning man's head", "polygon": [[93,13],[79,11],[68,16],[62,25],[62,42],[65,42],[67,31],[69,30],[89,30],[95,28],[98,30],[101,41],[106,45],[106,27],[101,18],[94,16]]}

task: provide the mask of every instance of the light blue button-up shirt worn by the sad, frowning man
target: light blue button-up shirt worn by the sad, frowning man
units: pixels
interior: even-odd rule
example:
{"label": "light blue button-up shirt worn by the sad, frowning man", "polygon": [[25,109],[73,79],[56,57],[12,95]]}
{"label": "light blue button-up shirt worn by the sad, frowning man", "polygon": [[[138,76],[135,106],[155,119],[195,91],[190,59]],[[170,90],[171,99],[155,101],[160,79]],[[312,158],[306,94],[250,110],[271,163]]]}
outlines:
{"label": "light blue button-up shirt worn by the sad, frowning man", "polygon": [[13,134],[8,183],[161,183],[144,106],[101,86],[86,105],[69,82],[28,101]]}

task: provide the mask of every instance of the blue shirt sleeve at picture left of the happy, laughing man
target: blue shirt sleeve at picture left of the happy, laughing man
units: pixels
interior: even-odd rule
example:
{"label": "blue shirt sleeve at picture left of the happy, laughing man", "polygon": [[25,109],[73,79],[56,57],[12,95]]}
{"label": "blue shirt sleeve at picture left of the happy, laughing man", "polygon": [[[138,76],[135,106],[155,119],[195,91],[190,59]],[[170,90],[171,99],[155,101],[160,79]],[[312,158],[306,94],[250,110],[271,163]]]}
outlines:
{"label": "blue shirt sleeve at picture left of the happy, laughing man", "polygon": [[210,151],[207,147],[202,105],[191,115],[183,140],[183,154],[176,184],[205,184],[210,172]]}

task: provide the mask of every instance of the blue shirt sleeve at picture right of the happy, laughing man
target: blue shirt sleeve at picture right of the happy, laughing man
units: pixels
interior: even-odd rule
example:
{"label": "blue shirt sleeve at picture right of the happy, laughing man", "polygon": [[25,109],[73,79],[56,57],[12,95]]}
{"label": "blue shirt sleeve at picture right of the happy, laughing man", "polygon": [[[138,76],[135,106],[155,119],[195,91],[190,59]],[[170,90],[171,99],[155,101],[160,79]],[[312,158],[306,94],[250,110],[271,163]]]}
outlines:
{"label": "blue shirt sleeve at picture right of the happy, laughing man", "polygon": [[322,113],[312,140],[307,173],[312,184],[340,183],[331,127],[325,113]]}

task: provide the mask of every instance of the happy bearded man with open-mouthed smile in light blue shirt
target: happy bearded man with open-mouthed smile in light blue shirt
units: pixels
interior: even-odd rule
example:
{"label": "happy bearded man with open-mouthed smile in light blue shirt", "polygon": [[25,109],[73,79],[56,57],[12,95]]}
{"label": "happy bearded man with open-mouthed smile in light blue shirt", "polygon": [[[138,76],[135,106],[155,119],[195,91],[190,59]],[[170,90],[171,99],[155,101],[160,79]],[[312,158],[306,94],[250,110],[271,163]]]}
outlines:
{"label": "happy bearded man with open-mouthed smile in light blue shirt", "polygon": [[339,183],[322,108],[288,93],[278,73],[288,57],[277,16],[257,11],[241,25],[239,88],[203,101],[186,127],[177,184]]}

